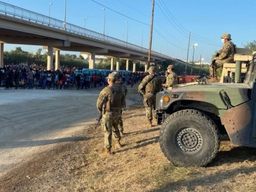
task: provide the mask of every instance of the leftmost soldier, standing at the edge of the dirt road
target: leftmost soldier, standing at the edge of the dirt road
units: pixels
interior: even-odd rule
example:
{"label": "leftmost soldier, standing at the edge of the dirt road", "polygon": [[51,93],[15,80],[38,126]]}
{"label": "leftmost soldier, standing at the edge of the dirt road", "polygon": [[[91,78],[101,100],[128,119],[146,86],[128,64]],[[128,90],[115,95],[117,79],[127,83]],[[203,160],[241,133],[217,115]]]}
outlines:
{"label": "leftmost soldier, standing at the edge of the dirt road", "polygon": [[110,73],[107,77],[108,87],[99,94],[97,108],[102,115],[102,130],[104,132],[104,155],[111,154],[112,131],[115,138],[115,147],[121,148],[118,119],[120,108],[124,105],[125,98],[122,88],[116,84],[117,76]]}

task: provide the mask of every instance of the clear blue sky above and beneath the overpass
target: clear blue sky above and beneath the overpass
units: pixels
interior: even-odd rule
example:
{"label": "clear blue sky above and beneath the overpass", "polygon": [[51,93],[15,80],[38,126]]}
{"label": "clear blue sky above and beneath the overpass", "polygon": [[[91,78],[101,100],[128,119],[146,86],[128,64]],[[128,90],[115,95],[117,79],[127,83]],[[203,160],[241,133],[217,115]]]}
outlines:
{"label": "clear blue sky above and beneath the overpass", "polygon": [[[65,0],[2,1],[46,16],[50,10],[52,18],[64,20]],[[238,48],[256,40],[255,7],[255,0],[155,0],[152,50],[187,60],[191,32],[188,60],[193,59],[194,51],[194,60],[202,57],[210,62],[222,47],[224,33],[231,34]],[[105,12],[105,35],[148,48],[151,9],[152,0],[66,0],[66,22],[103,34]],[[5,44],[4,50],[17,46],[29,52],[41,48]]]}

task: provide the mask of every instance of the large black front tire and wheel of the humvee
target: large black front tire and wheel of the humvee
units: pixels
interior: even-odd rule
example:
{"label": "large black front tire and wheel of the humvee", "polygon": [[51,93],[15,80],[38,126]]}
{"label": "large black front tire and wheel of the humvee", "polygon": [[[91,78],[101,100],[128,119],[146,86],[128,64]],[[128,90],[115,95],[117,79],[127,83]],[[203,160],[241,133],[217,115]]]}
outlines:
{"label": "large black front tire and wheel of the humvee", "polygon": [[198,110],[180,110],[166,118],[160,130],[163,154],[176,166],[205,166],[219,151],[214,121]]}

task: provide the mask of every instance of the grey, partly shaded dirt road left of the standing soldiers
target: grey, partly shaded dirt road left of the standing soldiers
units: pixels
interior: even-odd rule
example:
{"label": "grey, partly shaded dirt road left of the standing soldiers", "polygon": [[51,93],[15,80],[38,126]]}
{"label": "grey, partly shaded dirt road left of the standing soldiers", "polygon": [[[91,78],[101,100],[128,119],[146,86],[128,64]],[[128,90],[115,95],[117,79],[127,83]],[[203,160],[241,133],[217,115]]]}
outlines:
{"label": "grey, partly shaded dirt road left of the standing soldiers", "polygon": [[0,176],[54,143],[95,123],[99,90],[1,90]]}

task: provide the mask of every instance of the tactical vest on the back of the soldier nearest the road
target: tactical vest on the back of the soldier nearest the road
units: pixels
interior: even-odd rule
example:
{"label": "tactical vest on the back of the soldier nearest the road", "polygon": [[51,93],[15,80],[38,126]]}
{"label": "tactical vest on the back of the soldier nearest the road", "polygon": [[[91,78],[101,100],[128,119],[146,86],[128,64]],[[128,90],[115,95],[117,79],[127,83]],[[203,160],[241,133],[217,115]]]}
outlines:
{"label": "tactical vest on the back of the soldier nearest the road", "polygon": [[106,110],[111,112],[113,110],[118,110],[123,106],[123,90],[121,86],[113,85],[110,88],[110,100],[107,101]]}

